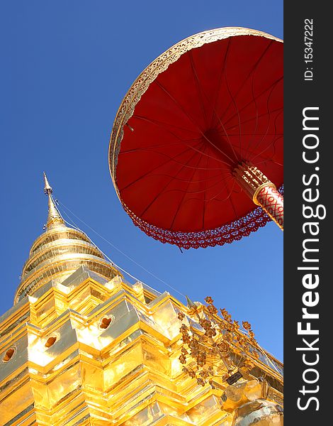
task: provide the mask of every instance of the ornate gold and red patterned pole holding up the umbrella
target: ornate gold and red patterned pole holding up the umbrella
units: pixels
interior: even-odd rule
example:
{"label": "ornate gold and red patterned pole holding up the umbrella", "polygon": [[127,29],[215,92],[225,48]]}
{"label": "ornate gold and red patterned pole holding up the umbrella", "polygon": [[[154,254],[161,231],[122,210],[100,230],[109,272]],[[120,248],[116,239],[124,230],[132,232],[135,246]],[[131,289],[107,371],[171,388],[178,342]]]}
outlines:
{"label": "ornate gold and red patterned pole holding up the umbrella", "polygon": [[237,165],[233,174],[254,203],[283,230],[283,196],[273,182],[251,163]]}

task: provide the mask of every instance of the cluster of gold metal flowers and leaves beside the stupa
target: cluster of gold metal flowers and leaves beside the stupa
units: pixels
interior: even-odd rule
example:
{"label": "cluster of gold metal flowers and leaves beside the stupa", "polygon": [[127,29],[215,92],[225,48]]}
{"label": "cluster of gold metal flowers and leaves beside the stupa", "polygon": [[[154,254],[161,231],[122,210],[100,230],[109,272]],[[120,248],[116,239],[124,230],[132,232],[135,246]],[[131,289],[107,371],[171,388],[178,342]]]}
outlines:
{"label": "cluster of gold metal flowers and leaves beside the stupa", "polygon": [[[235,373],[249,371],[254,359],[259,357],[258,344],[251,324],[232,320],[225,308],[220,311],[213,305],[212,297],[205,297],[205,305],[188,306],[188,325],[181,324],[183,346],[179,361],[183,371],[205,386],[214,377],[227,381]],[[220,312],[220,315],[219,315]],[[186,319],[179,312],[180,321]],[[200,327],[198,327],[200,326]]]}

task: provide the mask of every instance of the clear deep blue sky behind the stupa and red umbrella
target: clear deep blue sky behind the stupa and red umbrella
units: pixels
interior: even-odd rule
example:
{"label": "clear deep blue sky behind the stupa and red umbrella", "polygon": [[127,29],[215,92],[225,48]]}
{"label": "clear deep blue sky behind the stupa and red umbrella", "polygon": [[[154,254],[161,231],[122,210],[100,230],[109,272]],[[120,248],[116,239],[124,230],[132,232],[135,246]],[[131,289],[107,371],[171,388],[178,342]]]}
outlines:
{"label": "clear deep blue sky behind the stupa and red umbrella", "polygon": [[251,322],[261,346],[282,359],[283,233],[277,226],[181,253],[132,225],[108,171],[113,119],[137,75],[182,38],[222,26],[283,38],[283,1],[1,3],[0,314],[11,307],[30,246],[43,232],[46,170],[55,197],[145,269],[74,218],[115,263],[176,297],[147,271],[192,300],[211,295],[235,319]]}

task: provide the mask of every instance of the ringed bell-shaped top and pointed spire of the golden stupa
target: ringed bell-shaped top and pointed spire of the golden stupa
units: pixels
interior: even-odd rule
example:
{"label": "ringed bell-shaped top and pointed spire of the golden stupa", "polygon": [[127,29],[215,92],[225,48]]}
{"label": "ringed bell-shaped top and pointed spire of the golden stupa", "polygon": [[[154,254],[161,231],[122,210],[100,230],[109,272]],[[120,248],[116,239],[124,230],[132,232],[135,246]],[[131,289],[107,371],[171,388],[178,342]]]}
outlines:
{"label": "ringed bell-shaped top and pointed spire of the golden stupa", "polygon": [[15,303],[51,280],[62,283],[80,266],[87,266],[107,279],[121,275],[83,231],[67,226],[55,205],[52,187],[45,173],[44,184],[48,198],[46,229],[30,249],[16,290]]}

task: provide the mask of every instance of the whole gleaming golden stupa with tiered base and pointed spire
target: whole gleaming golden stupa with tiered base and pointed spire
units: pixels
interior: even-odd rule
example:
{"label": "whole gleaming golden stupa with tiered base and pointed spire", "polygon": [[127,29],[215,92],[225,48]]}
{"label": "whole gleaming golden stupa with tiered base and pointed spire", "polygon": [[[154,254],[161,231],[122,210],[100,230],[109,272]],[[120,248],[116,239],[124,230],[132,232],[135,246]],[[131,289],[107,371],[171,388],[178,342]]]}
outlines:
{"label": "whole gleaming golden stupa with tiered base and pointed spire", "polygon": [[179,362],[189,308],[126,282],[65,224],[46,176],[45,194],[45,232],[0,317],[1,426],[282,425],[278,360],[265,352],[246,381],[199,386]]}

